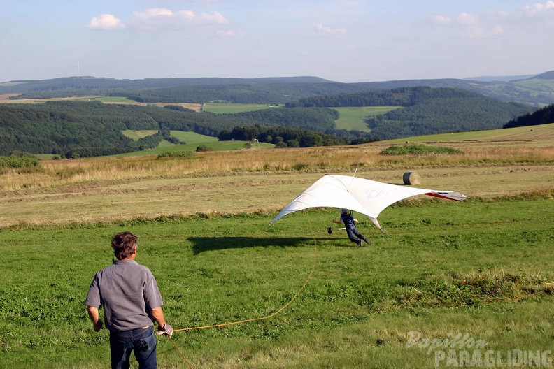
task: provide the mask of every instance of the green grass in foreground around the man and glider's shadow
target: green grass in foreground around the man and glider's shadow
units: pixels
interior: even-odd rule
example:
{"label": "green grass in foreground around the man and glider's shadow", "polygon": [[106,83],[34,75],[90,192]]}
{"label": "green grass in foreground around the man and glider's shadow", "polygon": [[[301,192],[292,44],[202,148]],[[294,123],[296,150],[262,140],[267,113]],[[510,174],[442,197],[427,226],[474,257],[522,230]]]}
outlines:
{"label": "green grass in foreground around the man and glider's shadow", "polygon": [[[373,242],[363,248],[343,231],[327,233],[333,210],[271,226],[271,217],[250,215],[5,230],[0,367],[109,366],[108,333],[92,331],[83,301],[94,273],[111,263],[111,235],[123,230],[139,236],[137,261],[157,276],[175,329],[266,317],[313,268],[275,317],[174,333],[194,368],[434,367],[444,350],[410,346],[414,332],[435,341],[469,335],[495,360],[544,352],[554,308],[551,201],[395,206],[380,217],[387,233],[360,224]],[[454,352],[458,363],[474,347]],[[166,338],[158,357],[159,368],[186,367]]]}

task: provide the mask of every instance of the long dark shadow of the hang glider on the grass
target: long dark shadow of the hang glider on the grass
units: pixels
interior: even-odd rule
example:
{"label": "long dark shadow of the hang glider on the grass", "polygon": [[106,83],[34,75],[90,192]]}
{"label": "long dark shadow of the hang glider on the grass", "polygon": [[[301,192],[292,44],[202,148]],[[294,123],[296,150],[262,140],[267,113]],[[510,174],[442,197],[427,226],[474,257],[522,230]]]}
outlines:
{"label": "long dark shadow of the hang glider on the grass", "polygon": [[[340,238],[342,239],[342,238]],[[243,249],[246,247],[298,247],[329,241],[329,238],[287,237],[287,238],[257,238],[257,237],[190,237],[194,255],[206,251],[220,249]],[[336,238],[339,240],[339,238]],[[346,238],[348,241],[348,238]],[[346,243],[346,242],[345,242]]]}

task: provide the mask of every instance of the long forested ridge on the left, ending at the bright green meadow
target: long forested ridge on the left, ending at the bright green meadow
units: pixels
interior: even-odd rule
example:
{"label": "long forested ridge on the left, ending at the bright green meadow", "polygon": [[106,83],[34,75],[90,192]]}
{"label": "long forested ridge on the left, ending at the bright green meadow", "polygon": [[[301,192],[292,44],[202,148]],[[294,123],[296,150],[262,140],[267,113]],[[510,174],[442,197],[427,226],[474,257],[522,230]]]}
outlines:
{"label": "long forested ridge on the left, ending at the bright green meadow", "polygon": [[[344,145],[350,143],[350,136],[359,140],[360,133],[350,135],[347,131],[334,130],[335,114],[336,111],[326,108],[287,109],[285,114],[267,109],[239,115],[216,115],[196,113],[180,106],[159,108],[62,101],[0,104],[0,155],[13,152],[51,153],[64,157],[119,154],[156,147],[162,139],[170,140],[168,132],[171,130],[218,136],[236,126],[253,126],[260,122],[281,126],[285,138],[301,143]],[[121,133],[126,129],[158,130],[159,133],[134,141]],[[326,131],[339,134],[329,136]],[[306,138],[316,136],[316,133],[325,140]],[[365,133],[365,136],[369,135]],[[281,140],[275,137],[274,142]],[[289,144],[285,140],[285,144],[294,146],[297,141]]]}

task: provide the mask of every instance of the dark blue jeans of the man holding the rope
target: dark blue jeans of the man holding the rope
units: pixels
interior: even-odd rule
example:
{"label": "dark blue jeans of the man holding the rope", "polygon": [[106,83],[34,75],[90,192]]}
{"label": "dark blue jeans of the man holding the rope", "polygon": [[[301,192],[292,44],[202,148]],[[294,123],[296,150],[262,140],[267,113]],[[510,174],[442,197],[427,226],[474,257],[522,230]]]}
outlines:
{"label": "dark blue jeans of the man holding the rope", "polygon": [[110,332],[112,369],[129,369],[131,352],[134,352],[140,369],[157,368],[156,344],[151,326],[132,331]]}

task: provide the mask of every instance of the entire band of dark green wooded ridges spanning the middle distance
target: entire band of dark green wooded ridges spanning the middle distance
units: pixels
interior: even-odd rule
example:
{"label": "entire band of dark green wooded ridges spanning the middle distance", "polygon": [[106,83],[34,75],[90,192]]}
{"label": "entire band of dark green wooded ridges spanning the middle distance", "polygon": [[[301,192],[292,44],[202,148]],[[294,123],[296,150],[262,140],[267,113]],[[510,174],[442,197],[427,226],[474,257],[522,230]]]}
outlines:
{"label": "entire band of dark green wooded ridges spanning the middle distance", "polygon": [[[325,84],[321,84],[325,85]],[[367,119],[371,133],[336,129],[333,107],[403,106]],[[0,104],[0,154],[29,152],[90,157],[156,147],[169,131],[194,131],[242,140],[248,136],[280,147],[345,145],[450,131],[501,128],[531,106],[503,103],[463,89],[403,87],[380,92],[312,96],[236,114],[197,113],[180,106],[136,106],[98,101]],[[256,127],[248,128],[248,127]],[[121,131],[157,130],[134,141]]]}

